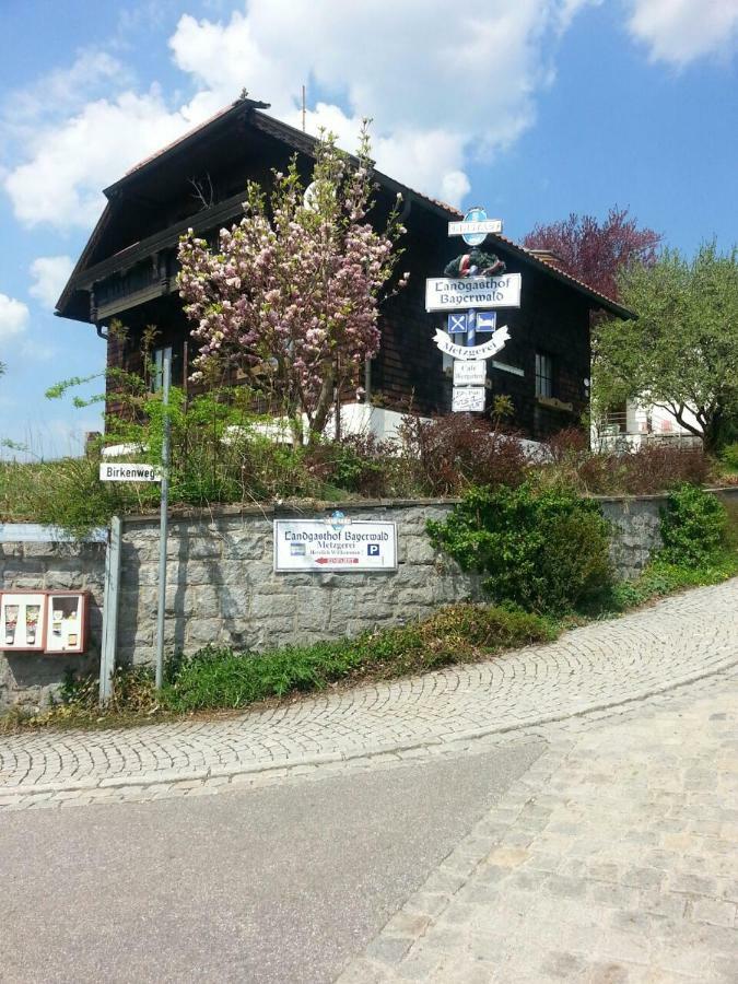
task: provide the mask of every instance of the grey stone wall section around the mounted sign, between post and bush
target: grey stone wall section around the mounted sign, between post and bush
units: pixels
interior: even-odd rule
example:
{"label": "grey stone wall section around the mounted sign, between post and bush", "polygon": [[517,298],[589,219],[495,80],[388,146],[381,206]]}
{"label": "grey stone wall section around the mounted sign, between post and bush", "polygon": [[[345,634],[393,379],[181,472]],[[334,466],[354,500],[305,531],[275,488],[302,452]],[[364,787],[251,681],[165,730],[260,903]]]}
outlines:
{"label": "grey stone wall section around the mounted sign, between post and bush", "polygon": [[[442,519],[450,512],[449,502],[339,507],[352,524],[397,524],[395,569],[277,573],[274,519],[318,519],[324,525],[336,508],[254,507],[172,520],[167,649],[191,652],[207,643],[265,649],[339,639],[376,625],[407,622],[462,598],[481,599],[479,578],[436,554],[425,532],[427,519]],[[325,526],[330,529],[329,524]],[[367,543],[367,557],[375,549]],[[157,565],[157,520],[127,519],[118,630],[122,661],[151,661],[154,657]]]}

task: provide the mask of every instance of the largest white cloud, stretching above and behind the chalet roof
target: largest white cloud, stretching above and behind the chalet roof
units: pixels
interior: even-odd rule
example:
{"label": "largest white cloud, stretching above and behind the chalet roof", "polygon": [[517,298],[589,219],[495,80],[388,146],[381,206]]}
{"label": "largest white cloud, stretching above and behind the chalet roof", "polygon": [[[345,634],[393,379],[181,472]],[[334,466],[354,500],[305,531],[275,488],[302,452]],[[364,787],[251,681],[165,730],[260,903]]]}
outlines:
{"label": "largest white cloud, stretching above and behind the chalet roof", "polygon": [[194,86],[188,102],[137,92],[117,59],[83,52],[48,77],[48,101],[36,86],[4,113],[13,134],[27,132],[2,183],[25,225],[90,226],[101,188],[244,87],[300,126],[308,83],[319,94],[308,92],[312,131],[327,125],[353,149],[361,118],[373,117],[379,168],[458,204],[469,161],[504,151],[534,122],[555,42],[596,2],[485,0],[452,15],[446,0],[249,0],[229,20],[185,14],[169,47]]}

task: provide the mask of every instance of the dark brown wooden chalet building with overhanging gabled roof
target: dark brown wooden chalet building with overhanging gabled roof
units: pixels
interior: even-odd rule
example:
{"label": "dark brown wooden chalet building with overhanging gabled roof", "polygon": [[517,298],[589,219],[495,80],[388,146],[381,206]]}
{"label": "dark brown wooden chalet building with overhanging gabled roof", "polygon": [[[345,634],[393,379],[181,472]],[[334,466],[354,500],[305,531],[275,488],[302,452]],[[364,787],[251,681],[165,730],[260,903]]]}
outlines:
{"label": "dark brown wooden chalet building with overhanging gabled roof", "polygon": [[[238,222],[246,181],[268,185],[272,169],[283,171],[295,152],[305,177],[312,173],[315,140],[265,109],[267,104],[238,99],[105,189],[107,204],[57,314],[94,325],[102,338],[110,319],[124,323],[126,340],[107,339],[108,366],[141,372],[142,332],[155,325],[160,352],[172,348],[173,383],[185,383],[195,351],[176,288],[179,236],[192,227],[211,237]],[[411,407],[430,415],[450,409],[450,360],[433,342],[445,316],[425,312],[424,288],[426,277],[441,277],[467,247],[447,235],[448,221],[460,218],[456,209],[387,175],[377,172],[375,178],[378,214],[402,194],[408,232],[401,267],[411,277],[382,308],[382,347],[367,367],[366,401],[343,413],[344,429],[368,425],[383,436],[393,431],[398,411]],[[557,269],[550,257],[503,236],[488,237],[483,249],[504,260],[507,272],[523,274],[519,309],[497,315],[511,339],[488,363],[491,393],[512,398],[513,423],[529,437],[578,425],[588,405],[589,313],[629,313]]]}

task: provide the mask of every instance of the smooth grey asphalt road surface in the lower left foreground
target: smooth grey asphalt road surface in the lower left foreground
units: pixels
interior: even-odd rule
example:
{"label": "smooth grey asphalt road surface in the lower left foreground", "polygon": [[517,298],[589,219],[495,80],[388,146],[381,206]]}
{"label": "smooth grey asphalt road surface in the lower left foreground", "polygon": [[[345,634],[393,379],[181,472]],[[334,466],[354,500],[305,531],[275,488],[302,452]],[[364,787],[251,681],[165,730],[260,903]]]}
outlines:
{"label": "smooth grey asphalt road surface in the lower left foreground", "polygon": [[542,749],[5,813],[0,981],[332,981]]}

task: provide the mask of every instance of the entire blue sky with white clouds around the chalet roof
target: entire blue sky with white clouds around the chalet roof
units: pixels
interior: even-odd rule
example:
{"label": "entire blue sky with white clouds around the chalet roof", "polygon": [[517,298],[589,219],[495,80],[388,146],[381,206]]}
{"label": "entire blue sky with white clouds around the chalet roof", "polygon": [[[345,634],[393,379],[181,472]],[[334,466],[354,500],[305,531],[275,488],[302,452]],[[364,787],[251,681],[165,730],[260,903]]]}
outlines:
{"label": "entire blue sky with white clouds around the chalet roof", "polygon": [[49,456],[99,427],[44,398],[104,364],[92,326],[52,314],[99,190],[244,86],[298,125],[306,82],[308,128],[349,149],[372,116],[382,169],[513,238],[619,204],[688,254],[738,239],[738,0],[476,8],[0,0],[0,438]]}

